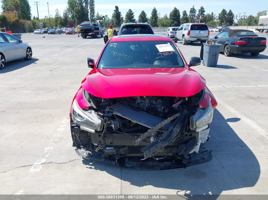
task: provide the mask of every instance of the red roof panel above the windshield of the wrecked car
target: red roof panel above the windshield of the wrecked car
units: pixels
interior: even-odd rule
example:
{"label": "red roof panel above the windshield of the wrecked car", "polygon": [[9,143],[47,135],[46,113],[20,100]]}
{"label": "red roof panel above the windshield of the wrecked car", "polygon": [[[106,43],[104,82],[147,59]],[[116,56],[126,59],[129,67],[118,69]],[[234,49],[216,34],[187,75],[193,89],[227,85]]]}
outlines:
{"label": "red roof panel above the windshield of the wrecked car", "polygon": [[110,40],[110,42],[121,42],[121,41],[171,41],[171,39],[164,35],[131,34],[131,35],[114,36]]}

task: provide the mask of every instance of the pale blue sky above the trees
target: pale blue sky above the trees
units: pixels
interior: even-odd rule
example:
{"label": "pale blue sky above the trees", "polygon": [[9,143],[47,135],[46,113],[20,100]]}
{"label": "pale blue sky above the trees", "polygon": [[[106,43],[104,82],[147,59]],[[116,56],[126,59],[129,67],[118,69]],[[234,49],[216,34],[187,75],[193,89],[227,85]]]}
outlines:
{"label": "pale blue sky above the trees", "polygon": [[[29,4],[31,6],[32,16],[37,16],[37,8],[34,5],[34,1],[38,0],[29,0]],[[39,18],[44,18],[44,16],[48,16],[47,10],[47,2],[49,3],[49,13],[50,15],[55,14],[55,10],[58,8],[60,14],[62,15],[64,9],[67,6],[67,0],[39,0]],[[142,10],[144,10],[147,14],[147,17],[151,16],[152,9],[155,7],[158,13],[161,13],[161,16],[164,14],[168,14],[173,10],[174,7],[179,9],[182,14],[183,10],[187,11],[189,14],[190,8],[194,5],[195,9],[198,12],[200,6],[203,6],[205,9],[205,13],[211,13],[218,15],[222,9],[227,10],[227,12],[231,9],[233,13],[239,15],[239,13],[244,12],[245,15],[252,14],[255,16],[258,11],[268,10],[268,1],[267,0],[244,0],[244,1],[233,1],[233,0],[202,0],[202,1],[158,1],[158,0],[135,0],[135,1],[126,1],[126,0],[95,0],[95,13],[99,12],[100,15],[108,15],[111,18],[113,14],[113,10],[115,6],[119,7],[119,11],[122,16],[125,17],[128,9],[131,9],[134,12],[135,19],[138,19],[138,16]]]}

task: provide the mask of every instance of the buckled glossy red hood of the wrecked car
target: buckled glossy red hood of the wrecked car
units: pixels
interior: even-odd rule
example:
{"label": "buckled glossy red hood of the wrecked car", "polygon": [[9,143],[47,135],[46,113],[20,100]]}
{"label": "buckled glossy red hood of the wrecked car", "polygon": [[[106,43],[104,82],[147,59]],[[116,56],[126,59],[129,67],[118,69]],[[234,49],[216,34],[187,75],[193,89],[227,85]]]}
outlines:
{"label": "buckled glossy red hood of the wrecked car", "polygon": [[128,96],[188,97],[206,85],[191,68],[123,68],[93,69],[82,87],[101,98]]}

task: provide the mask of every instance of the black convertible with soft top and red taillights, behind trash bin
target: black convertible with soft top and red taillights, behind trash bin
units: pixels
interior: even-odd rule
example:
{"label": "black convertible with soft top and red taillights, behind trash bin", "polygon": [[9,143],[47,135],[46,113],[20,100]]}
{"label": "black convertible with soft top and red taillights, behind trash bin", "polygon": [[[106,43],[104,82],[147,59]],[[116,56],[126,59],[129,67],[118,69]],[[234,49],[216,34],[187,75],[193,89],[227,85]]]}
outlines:
{"label": "black convertible with soft top and red taillights, behind trash bin", "polygon": [[250,53],[251,56],[258,56],[266,48],[266,38],[257,36],[251,30],[224,30],[209,40],[221,44],[221,52],[224,52],[225,56],[232,53]]}

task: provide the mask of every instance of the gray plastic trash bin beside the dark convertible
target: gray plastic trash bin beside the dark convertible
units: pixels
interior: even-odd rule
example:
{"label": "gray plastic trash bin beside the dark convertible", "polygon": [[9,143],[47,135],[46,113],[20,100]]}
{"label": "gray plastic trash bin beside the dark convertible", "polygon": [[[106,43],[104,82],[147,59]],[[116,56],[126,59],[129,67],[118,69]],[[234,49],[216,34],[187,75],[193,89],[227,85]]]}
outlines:
{"label": "gray plastic trash bin beside the dark convertible", "polygon": [[203,65],[207,67],[216,67],[221,44],[208,45],[203,43]]}

